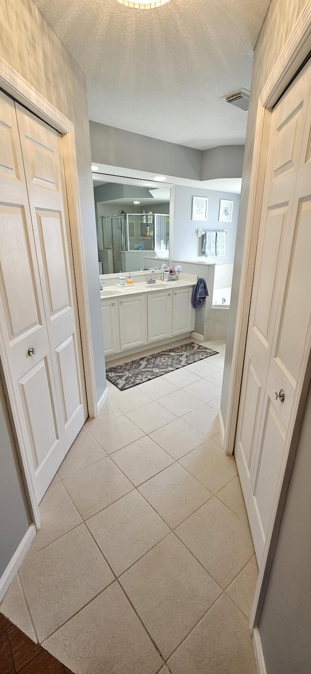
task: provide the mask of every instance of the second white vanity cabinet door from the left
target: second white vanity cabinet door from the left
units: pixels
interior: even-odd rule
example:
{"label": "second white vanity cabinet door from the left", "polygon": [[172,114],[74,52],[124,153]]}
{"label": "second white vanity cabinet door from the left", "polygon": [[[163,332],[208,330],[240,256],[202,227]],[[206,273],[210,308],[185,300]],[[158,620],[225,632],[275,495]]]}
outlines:
{"label": "second white vanity cabinet door from the left", "polygon": [[127,297],[118,300],[121,351],[147,342],[147,297]]}

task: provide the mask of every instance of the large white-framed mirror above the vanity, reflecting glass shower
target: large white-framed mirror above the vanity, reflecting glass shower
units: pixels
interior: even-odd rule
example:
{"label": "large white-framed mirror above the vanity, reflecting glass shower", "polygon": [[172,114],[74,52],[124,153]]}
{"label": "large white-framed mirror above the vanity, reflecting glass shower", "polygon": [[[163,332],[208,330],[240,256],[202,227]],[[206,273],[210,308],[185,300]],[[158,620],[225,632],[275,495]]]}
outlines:
{"label": "large white-framed mirror above the vanity, reflecting glass shower", "polygon": [[93,175],[99,274],[160,269],[170,257],[170,187]]}

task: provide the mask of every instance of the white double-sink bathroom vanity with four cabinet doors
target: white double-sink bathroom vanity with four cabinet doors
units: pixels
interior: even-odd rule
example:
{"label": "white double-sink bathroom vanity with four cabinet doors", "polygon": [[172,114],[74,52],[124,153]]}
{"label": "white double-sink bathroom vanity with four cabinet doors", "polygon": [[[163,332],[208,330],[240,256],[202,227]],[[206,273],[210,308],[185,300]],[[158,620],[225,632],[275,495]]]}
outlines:
{"label": "white double-sink bathroom vanity with four cabinet doors", "polygon": [[106,359],[190,334],[195,328],[193,286],[184,280],[105,286],[100,297]]}

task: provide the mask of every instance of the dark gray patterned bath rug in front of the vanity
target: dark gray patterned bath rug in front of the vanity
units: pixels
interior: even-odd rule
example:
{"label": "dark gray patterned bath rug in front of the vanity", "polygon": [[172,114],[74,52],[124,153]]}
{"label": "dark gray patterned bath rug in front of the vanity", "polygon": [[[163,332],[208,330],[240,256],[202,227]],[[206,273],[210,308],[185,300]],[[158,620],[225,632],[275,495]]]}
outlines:
{"label": "dark gray patterned bath rug in front of the vanity", "polygon": [[172,346],[172,348],[153,353],[150,356],[138,358],[137,361],[107,367],[106,377],[120,391],[125,391],[127,388],[138,386],[143,384],[144,381],[155,379],[155,377],[162,377],[162,375],[185,367],[185,365],[203,361],[204,358],[215,356],[217,353],[218,351],[213,351],[207,346],[189,342],[188,344],[181,344],[181,346]]}

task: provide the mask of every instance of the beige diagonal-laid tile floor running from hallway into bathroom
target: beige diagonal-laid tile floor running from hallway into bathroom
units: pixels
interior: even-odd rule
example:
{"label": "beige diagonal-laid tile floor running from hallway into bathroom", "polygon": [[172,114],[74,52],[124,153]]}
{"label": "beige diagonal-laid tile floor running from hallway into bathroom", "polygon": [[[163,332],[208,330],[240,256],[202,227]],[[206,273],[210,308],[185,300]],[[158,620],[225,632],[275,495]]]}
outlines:
{"label": "beige diagonal-laid tile floor running from hallway into bathroom", "polygon": [[109,384],[1,603],[76,674],[255,674],[258,569],[217,421],[225,344],[205,345],[219,355]]}

